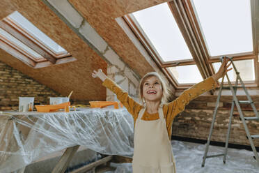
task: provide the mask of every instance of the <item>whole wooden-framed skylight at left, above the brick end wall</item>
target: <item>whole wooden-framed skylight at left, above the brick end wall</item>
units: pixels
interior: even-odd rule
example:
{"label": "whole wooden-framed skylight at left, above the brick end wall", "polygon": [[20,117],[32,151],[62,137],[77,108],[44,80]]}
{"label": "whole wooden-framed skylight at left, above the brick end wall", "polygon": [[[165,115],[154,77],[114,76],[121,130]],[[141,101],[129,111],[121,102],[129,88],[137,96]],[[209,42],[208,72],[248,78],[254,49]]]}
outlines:
{"label": "whole wooden-framed skylight at left, above the brick end wall", "polygon": [[77,60],[17,11],[0,21],[0,48],[33,68]]}

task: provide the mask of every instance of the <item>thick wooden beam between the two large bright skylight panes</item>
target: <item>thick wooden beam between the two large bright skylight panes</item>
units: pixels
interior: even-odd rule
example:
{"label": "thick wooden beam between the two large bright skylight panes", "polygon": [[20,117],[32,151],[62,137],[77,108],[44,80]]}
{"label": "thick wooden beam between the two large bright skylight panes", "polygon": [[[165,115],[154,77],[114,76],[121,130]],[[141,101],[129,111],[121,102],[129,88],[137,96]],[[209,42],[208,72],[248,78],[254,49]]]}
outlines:
{"label": "thick wooden beam between the two large bright skylight panes", "polygon": [[[213,75],[213,70],[208,63],[208,53],[206,51],[204,40],[199,34],[201,31],[195,22],[196,17],[191,12],[191,7],[188,1],[173,0],[168,2],[168,6],[175,17],[183,38],[191,52],[191,55],[196,62],[198,70],[203,79]],[[214,91],[210,91],[213,94]]]}

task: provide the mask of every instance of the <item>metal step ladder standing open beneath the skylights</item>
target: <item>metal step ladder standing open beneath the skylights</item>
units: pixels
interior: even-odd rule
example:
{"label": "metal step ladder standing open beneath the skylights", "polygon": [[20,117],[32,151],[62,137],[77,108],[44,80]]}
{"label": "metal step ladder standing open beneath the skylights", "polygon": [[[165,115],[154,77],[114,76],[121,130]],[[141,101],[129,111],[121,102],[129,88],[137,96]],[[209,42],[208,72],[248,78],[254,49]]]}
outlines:
{"label": "metal step ladder standing open beneath the skylights", "polygon": [[[258,112],[256,110],[256,106],[254,105],[253,100],[251,99],[251,97],[249,96],[248,91],[246,90],[246,87],[244,87],[244,83],[243,83],[243,81],[240,78],[240,73],[237,72],[237,68],[235,68],[235,65],[233,63],[232,57],[231,58],[230,57],[221,57],[220,58],[221,63],[223,62],[223,58],[230,59],[230,63],[232,63],[232,65],[233,65],[233,68],[235,70],[237,78],[236,78],[236,81],[235,81],[235,85],[233,86],[231,84],[230,80],[229,80],[228,74],[226,74],[226,75],[224,75],[222,77],[221,86],[219,88],[219,95],[217,97],[216,106],[215,106],[215,109],[214,109],[214,112],[213,112],[212,124],[210,126],[210,135],[207,138],[207,144],[206,144],[206,147],[205,147],[205,152],[204,152],[204,156],[203,156],[203,163],[202,163],[201,167],[204,167],[206,158],[212,158],[212,157],[218,157],[218,156],[223,156],[223,163],[224,164],[226,163],[226,155],[227,155],[227,151],[228,151],[228,140],[229,140],[229,136],[230,136],[231,121],[232,121],[233,112],[234,112],[234,106],[235,105],[237,107],[237,111],[240,114],[240,120],[242,121],[242,123],[244,125],[244,130],[246,131],[246,138],[248,138],[248,140],[249,140],[249,142],[251,144],[251,148],[252,148],[253,154],[254,154],[253,158],[256,159],[256,161],[257,161],[257,163],[259,165],[258,152],[256,151],[256,147],[253,144],[253,140],[256,140],[256,139],[259,140],[259,135],[250,135],[249,128],[246,125],[246,121],[259,121],[259,114],[258,114]],[[223,87],[223,80],[224,80],[225,76],[227,77],[227,80],[228,80],[228,87]],[[238,81],[240,81],[241,87],[237,87]],[[248,100],[238,100],[237,99],[237,96],[236,96],[237,88],[244,89],[244,92],[246,93],[246,97],[247,97]],[[233,95],[233,100],[232,100],[232,105],[231,105],[231,110],[230,110],[230,118],[229,118],[229,123],[228,123],[228,132],[227,132],[227,136],[226,136],[225,150],[224,150],[224,153],[217,154],[217,155],[212,155],[212,156],[207,156],[207,151],[209,150],[209,146],[210,146],[210,139],[212,137],[212,130],[214,128],[214,122],[216,120],[216,115],[217,115],[217,110],[218,110],[218,107],[219,107],[219,100],[220,100],[220,97],[221,97],[222,89],[230,89],[230,91],[232,92],[232,95]],[[253,116],[253,117],[244,117],[244,114],[243,114],[243,112],[241,110],[240,104],[250,104],[251,107],[253,108],[253,112],[255,113],[255,116]]]}

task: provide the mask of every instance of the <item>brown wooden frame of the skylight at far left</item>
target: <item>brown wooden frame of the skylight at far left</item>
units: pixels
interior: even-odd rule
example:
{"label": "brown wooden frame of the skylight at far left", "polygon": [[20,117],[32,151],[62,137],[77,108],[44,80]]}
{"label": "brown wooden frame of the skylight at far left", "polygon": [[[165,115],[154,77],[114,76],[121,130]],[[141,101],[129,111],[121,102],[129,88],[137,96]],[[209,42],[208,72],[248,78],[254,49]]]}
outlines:
{"label": "brown wooden frame of the skylight at far left", "polygon": [[22,47],[19,47],[19,45],[11,43],[10,40],[4,36],[0,36],[0,47],[32,68],[54,66],[77,60],[66,51],[59,53],[54,52],[51,47],[48,47],[41,40],[33,36],[32,33],[19,26],[19,24],[10,17],[5,17],[0,21],[0,28],[42,56],[41,59],[33,57],[32,54]]}

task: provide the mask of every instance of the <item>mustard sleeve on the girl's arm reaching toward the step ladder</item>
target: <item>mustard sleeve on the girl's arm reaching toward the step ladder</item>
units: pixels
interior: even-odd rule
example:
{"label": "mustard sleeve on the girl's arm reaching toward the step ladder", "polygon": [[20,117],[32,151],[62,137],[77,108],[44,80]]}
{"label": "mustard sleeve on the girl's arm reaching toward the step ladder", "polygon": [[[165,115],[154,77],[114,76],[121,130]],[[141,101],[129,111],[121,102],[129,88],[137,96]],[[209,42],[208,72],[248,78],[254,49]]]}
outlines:
{"label": "mustard sleeve on the girl's arm reaching toward the step ladder", "polygon": [[217,82],[215,82],[212,77],[207,77],[207,79],[202,82],[194,84],[194,86],[185,90],[178,98],[168,103],[168,122],[172,122],[177,114],[184,111],[185,106],[188,105],[191,100],[216,87]]}

